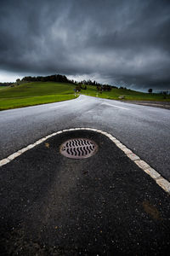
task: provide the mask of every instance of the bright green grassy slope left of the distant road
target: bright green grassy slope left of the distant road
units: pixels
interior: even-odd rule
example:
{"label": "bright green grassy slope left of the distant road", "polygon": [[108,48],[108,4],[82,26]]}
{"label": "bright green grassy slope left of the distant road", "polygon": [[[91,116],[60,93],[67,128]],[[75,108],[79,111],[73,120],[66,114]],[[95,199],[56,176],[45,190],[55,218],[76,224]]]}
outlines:
{"label": "bright green grassy slope left of the distant road", "polygon": [[[3,86],[2,86],[3,87]],[[74,99],[74,84],[32,82],[0,91],[0,110]]]}

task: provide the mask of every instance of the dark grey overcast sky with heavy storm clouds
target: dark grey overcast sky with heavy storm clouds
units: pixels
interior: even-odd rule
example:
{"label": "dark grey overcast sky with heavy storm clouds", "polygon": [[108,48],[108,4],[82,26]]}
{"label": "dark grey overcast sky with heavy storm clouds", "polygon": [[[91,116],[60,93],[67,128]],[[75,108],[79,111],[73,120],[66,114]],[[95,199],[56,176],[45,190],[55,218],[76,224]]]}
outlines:
{"label": "dark grey overcast sky with heavy storm clouds", "polygon": [[54,73],[170,90],[170,1],[0,0],[0,81]]}

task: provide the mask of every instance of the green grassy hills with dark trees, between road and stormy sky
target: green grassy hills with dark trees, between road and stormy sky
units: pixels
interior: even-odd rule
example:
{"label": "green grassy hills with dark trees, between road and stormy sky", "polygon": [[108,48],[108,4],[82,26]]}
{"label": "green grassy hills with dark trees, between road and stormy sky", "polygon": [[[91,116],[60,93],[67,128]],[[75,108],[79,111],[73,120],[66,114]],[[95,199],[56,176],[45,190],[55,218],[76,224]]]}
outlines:
{"label": "green grassy hills with dark trees, between road and stormy sky", "polygon": [[[50,81],[47,81],[48,79]],[[0,86],[0,110],[62,102],[74,99],[79,94],[122,101],[170,102],[170,95],[167,95],[167,92],[156,94],[150,89],[149,93],[143,93],[90,80],[77,83],[65,76],[53,75],[25,77],[22,80],[17,79],[16,83],[10,83],[8,86]]]}

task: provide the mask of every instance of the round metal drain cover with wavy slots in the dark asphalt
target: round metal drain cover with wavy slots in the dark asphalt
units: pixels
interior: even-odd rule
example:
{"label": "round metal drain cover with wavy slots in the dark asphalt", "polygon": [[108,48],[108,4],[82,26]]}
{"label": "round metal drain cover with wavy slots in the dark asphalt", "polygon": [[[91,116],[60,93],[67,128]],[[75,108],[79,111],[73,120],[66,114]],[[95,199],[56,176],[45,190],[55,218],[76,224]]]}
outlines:
{"label": "round metal drain cover with wavy slots in the dark asphalt", "polygon": [[83,159],[96,154],[98,145],[87,138],[76,138],[62,143],[60,153],[69,158]]}

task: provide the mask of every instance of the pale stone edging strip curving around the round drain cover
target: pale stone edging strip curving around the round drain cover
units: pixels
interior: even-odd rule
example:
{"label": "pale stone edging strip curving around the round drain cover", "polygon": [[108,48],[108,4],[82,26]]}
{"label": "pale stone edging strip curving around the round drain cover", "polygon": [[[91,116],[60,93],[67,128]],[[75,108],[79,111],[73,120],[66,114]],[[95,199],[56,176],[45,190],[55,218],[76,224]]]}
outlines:
{"label": "pale stone edging strip curving around the round drain cover", "polygon": [[141,160],[137,154],[134,154],[133,151],[131,151],[129,148],[123,145],[119,140],[116,139],[116,137],[113,137],[108,132],[97,130],[94,128],[71,128],[71,129],[65,129],[65,130],[54,132],[48,135],[47,137],[42,137],[42,139],[38,140],[36,143],[30,144],[26,148],[21,148],[19,151],[15,152],[14,154],[10,154],[7,158],[0,160],[0,166],[7,165],[10,161],[19,157],[21,154],[25,153],[27,150],[34,148],[38,144],[46,141],[49,137],[54,137],[55,135],[58,135],[66,131],[78,131],[78,130],[96,131],[105,135],[106,137],[109,137],[111,141],[115,143],[116,146],[120,148],[130,160],[133,161],[133,163],[139,166],[139,168],[142,169],[145,173],[150,175],[150,177],[152,177],[156,181],[156,183],[161,187],[161,189],[165,190],[168,194],[170,194],[170,183],[167,181],[167,179],[165,179],[164,177],[161,177],[161,174],[159,172],[156,172],[156,170],[153,169],[146,162],[144,162],[144,160]]}

